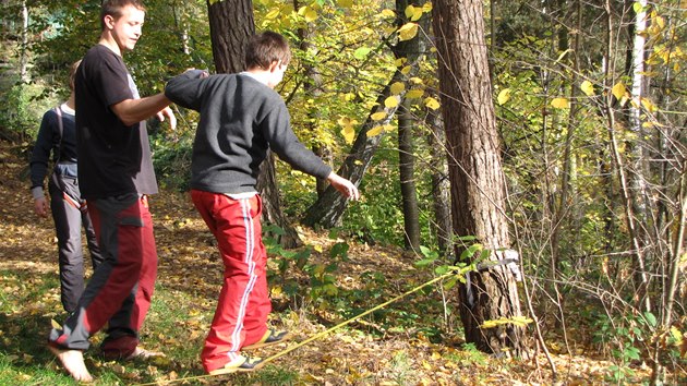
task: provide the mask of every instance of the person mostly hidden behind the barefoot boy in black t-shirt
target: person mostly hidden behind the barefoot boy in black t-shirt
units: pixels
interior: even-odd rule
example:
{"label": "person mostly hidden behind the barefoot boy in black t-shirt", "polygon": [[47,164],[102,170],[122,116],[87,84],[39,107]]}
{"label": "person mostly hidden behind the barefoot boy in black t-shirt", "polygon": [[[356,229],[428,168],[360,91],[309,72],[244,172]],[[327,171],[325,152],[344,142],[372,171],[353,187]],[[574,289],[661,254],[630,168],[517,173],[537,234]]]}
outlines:
{"label": "person mostly hidden behind the barefoot boy in black t-shirt", "polygon": [[58,239],[58,263],[60,270],[60,299],[68,313],[76,310],[76,302],[84,292],[84,253],[81,245],[81,228],[86,233],[93,269],[103,262],[95,230],[79,189],[76,166],[76,131],[74,129],[74,75],[81,63],[72,64],[69,85],[70,96],[65,102],[46,111],[40,122],[38,136],[31,157],[31,193],[34,212],[48,217],[48,201],[44,181],[48,172],[50,154],[53,168],[48,179],[50,212]]}

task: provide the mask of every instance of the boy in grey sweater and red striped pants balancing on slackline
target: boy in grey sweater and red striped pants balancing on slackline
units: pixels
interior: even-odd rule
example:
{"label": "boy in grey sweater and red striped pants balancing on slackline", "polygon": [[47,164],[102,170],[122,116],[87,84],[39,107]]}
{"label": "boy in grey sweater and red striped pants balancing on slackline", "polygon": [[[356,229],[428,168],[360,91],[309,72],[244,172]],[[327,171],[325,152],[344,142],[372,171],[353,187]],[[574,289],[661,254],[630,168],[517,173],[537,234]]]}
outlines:
{"label": "boy in grey sweater and red striped pants balancing on slackline", "polygon": [[258,168],[274,150],[293,168],[326,179],[346,197],[358,188],[332,171],[296,137],[284,99],[274,91],[291,59],[284,36],[265,32],[249,39],[239,74],[191,70],[167,83],[173,102],[201,112],[191,160],[193,203],[217,239],[224,282],[201,353],[212,374],[252,371],[261,360],[250,350],[285,341],[289,333],[267,325],[267,255],[262,241]]}

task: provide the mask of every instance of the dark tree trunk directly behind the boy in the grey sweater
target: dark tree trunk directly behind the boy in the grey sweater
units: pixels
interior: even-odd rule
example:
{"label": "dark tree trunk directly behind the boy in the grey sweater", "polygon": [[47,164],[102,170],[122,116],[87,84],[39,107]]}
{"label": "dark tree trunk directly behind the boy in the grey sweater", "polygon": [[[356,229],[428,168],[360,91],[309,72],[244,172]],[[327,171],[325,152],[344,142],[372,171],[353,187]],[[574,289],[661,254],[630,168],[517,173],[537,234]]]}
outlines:
{"label": "dark tree trunk directly behind the boy in the grey sweater", "polygon": [[[244,70],[245,41],[255,33],[253,2],[251,0],[222,0],[207,10],[213,41],[213,58],[217,73],[237,73]],[[277,184],[274,156],[269,154],[260,167],[257,191],[263,197],[263,217],[284,230],[279,243],[284,248],[300,244],[298,233],[281,212],[281,198]]]}

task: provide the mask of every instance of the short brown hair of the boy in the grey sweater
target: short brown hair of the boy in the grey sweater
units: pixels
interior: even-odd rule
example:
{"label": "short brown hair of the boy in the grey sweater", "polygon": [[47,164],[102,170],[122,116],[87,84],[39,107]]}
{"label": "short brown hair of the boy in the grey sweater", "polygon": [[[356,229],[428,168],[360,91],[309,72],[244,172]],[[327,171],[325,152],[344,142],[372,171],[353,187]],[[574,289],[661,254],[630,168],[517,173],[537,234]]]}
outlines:
{"label": "short brown hair of the boy in the grey sweater", "polygon": [[291,61],[291,49],[287,39],[272,31],[253,35],[249,38],[245,49],[245,68],[268,69],[269,64],[281,60],[282,64]]}

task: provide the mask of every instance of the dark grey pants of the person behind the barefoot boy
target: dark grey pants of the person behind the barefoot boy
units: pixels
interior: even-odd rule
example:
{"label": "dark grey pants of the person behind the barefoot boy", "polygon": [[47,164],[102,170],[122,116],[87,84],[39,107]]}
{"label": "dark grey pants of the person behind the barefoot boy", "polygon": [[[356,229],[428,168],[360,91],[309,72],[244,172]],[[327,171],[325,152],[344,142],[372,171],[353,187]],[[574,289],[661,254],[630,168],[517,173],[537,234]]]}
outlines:
{"label": "dark grey pants of the person behind the barefoot boy", "polygon": [[[59,179],[59,180],[58,180]],[[61,186],[57,186],[57,182]],[[84,253],[81,244],[81,228],[86,232],[93,269],[103,262],[93,224],[85,202],[79,193],[75,178],[57,177],[49,179],[50,209],[58,239],[60,266],[60,288],[62,306],[69,313],[76,310],[79,298],[84,292]]]}

